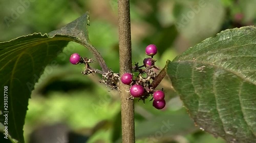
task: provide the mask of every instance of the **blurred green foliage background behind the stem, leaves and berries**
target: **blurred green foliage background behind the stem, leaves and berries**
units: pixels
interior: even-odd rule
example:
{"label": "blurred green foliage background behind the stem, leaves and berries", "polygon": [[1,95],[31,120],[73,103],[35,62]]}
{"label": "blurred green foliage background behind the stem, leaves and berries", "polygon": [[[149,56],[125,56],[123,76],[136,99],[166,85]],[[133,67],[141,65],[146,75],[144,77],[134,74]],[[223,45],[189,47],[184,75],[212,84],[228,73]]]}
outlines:
{"label": "blurred green foliage background behind the stem, leaves and berries", "polygon": [[[156,65],[163,67],[167,59],[222,30],[255,25],[255,5],[255,0],[133,0],[133,63],[142,64],[148,44],[158,46]],[[91,43],[119,72],[117,0],[11,0],[1,1],[0,7],[0,41],[49,33],[89,11]],[[29,100],[26,142],[121,142],[118,92],[99,83],[99,75],[81,75],[83,66],[69,63],[74,52],[94,59],[88,49],[70,42],[57,55],[57,66],[46,68]],[[97,63],[92,66],[100,68]],[[194,127],[167,77],[158,88],[166,92],[164,109],[155,109],[148,100],[145,104],[135,100],[136,142],[225,142]]]}

